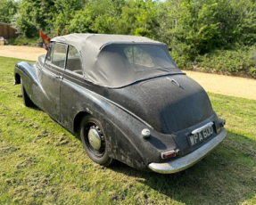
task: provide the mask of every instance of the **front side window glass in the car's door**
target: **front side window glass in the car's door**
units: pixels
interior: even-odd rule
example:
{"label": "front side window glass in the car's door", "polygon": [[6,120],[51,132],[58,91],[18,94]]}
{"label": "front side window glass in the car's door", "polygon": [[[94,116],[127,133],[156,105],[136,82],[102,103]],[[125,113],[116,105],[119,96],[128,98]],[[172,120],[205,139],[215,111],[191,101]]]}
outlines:
{"label": "front side window glass in the car's door", "polygon": [[52,63],[62,69],[65,68],[67,47],[68,45],[54,44]]}

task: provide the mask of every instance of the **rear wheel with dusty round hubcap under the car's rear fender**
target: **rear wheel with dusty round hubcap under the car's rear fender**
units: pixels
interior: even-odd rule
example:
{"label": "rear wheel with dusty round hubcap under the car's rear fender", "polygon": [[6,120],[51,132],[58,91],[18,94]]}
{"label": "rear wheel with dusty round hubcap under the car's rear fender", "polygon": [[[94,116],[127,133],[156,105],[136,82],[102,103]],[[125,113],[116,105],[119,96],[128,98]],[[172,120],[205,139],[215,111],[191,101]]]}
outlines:
{"label": "rear wheel with dusty round hubcap under the car's rear fender", "polygon": [[87,115],[82,119],[80,136],[91,160],[103,166],[110,166],[114,162],[108,154],[108,143],[103,126],[92,115]]}

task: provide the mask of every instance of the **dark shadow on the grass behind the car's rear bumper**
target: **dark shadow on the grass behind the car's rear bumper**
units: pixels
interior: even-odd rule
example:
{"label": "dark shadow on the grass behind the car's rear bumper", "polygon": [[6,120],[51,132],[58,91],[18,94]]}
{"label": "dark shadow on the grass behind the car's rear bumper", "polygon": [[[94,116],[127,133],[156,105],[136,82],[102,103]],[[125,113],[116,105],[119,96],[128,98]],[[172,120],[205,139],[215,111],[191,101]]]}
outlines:
{"label": "dark shadow on the grass behind the car's rear bumper", "polygon": [[[241,146],[241,140],[244,145]],[[252,153],[244,147],[252,146]],[[256,142],[227,132],[223,143],[191,168],[176,174],[147,173],[117,161],[111,169],[136,177],[153,190],[186,204],[237,204],[256,194]],[[253,152],[254,150],[254,152]],[[254,171],[255,172],[255,171]],[[145,196],[146,197],[146,196]]]}

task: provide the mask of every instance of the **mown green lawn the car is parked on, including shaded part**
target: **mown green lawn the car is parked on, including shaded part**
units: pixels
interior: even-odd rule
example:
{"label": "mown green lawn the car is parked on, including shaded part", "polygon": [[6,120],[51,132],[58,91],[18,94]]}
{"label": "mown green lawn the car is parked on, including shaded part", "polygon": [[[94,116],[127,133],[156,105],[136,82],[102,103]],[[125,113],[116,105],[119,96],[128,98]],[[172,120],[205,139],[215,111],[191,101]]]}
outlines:
{"label": "mown green lawn the car is parked on, including shaded part", "polygon": [[71,135],[12,86],[18,59],[0,57],[0,204],[255,204],[256,101],[209,94],[227,138],[174,175],[89,160]]}

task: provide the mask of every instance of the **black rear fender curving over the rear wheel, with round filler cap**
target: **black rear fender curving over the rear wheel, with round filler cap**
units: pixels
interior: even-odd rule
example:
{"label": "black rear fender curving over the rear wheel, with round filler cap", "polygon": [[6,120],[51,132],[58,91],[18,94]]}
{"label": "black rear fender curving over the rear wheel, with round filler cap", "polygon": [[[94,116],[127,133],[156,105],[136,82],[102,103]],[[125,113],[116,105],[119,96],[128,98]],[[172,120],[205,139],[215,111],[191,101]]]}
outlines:
{"label": "black rear fender curving over the rear wheel, with round filler cap", "polygon": [[[148,163],[161,162],[161,151],[176,147],[170,135],[167,137],[157,133],[142,119],[102,95],[75,86],[68,81],[62,81],[61,89],[62,125],[74,132],[79,124],[78,119],[82,119],[81,113],[91,114],[103,124],[112,158],[123,161],[131,167],[148,170]],[[70,105],[70,99],[76,99],[76,103]],[[152,130],[149,140],[141,136],[144,128]]]}

